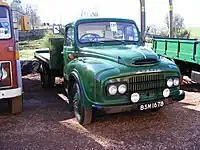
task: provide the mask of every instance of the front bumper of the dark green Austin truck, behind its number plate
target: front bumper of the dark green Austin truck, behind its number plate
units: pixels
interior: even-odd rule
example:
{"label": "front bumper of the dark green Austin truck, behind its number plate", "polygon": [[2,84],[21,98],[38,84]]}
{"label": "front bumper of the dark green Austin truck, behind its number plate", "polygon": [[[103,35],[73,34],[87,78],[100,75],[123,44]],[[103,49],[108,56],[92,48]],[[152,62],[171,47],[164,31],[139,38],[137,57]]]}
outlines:
{"label": "front bumper of the dark green Austin truck, behind its number plate", "polygon": [[[179,95],[173,96],[170,98],[161,99],[165,102],[165,106],[174,102],[174,101],[181,101],[185,98],[185,92],[183,90],[180,90]],[[156,100],[160,101],[160,99]],[[118,113],[118,112],[124,112],[124,111],[133,111],[138,110],[140,104],[145,103],[151,103],[156,101],[146,101],[142,103],[132,103],[128,105],[118,105],[118,106],[99,106],[99,105],[92,105],[93,109],[96,111],[104,112],[104,113]]]}

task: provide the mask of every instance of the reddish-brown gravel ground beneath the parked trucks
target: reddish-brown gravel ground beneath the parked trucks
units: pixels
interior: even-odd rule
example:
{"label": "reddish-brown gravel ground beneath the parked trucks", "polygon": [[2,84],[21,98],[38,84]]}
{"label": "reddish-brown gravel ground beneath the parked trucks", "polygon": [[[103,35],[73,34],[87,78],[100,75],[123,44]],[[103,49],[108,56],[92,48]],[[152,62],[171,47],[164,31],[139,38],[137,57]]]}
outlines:
{"label": "reddish-brown gravel ground beneath the parked trucks", "polygon": [[23,113],[0,114],[1,150],[200,149],[197,84],[184,84],[186,98],[157,113],[105,115],[81,126],[59,97],[63,92],[59,80],[57,88],[46,91],[40,87],[38,74],[24,76],[23,82]]}

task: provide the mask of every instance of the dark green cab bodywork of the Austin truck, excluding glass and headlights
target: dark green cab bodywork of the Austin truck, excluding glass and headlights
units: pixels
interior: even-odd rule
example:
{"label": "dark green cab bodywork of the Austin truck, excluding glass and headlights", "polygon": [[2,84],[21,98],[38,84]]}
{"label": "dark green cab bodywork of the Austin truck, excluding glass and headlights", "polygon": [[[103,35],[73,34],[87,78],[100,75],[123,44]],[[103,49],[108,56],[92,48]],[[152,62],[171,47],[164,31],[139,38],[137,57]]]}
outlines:
{"label": "dark green cab bodywork of the Austin truck, excluding glass and headlights", "polygon": [[[66,28],[74,29],[74,43],[68,46],[67,42],[64,42],[63,75],[68,81],[71,75],[78,78],[85,107],[133,104],[130,101],[132,92],[140,94],[139,103],[164,99],[163,90],[166,88],[166,79],[180,77],[176,64],[164,57],[160,58],[153,50],[142,47],[141,41],[125,45],[115,42],[106,45],[81,45],[77,40],[77,26],[81,22],[93,21],[123,21],[135,24],[134,21],[127,19],[90,18],[80,19],[66,26]],[[66,35],[64,41],[66,41]],[[73,54],[75,59],[70,60],[69,54]],[[156,62],[139,65],[134,64],[136,60]],[[128,84],[129,92],[126,95],[109,96],[107,84],[115,82]],[[178,97],[180,94],[179,87],[170,88],[170,91],[170,97]]]}

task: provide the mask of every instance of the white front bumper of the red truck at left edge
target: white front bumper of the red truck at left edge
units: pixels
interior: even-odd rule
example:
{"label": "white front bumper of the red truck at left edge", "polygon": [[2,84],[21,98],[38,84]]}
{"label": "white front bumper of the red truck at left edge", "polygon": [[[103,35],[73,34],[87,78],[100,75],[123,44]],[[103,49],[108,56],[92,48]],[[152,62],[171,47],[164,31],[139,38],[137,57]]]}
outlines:
{"label": "white front bumper of the red truck at left edge", "polygon": [[22,88],[0,90],[0,99],[18,97],[22,95]]}

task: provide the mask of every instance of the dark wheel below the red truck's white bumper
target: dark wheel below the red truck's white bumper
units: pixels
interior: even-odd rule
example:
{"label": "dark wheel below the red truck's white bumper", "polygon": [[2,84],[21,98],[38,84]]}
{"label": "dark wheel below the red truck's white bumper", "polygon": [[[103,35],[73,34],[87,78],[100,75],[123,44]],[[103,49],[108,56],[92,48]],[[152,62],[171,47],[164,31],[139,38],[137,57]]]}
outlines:
{"label": "dark wheel below the red truck's white bumper", "polygon": [[22,112],[22,96],[14,97],[9,99],[9,108],[12,114]]}

